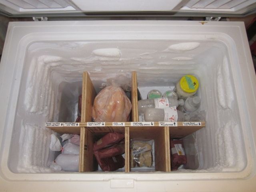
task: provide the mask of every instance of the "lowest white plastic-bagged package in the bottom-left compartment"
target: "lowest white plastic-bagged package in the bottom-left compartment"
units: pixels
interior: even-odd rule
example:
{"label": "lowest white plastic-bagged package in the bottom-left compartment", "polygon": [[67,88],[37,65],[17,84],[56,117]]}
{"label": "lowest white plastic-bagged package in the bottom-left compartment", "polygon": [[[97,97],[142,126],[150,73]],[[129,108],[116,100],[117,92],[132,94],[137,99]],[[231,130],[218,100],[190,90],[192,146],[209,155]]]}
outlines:
{"label": "lowest white plastic-bagged package in the bottom-left compartment", "polygon": [[61,166],[64,171],[78,171],[79,155],[59,154],[55,162]]}

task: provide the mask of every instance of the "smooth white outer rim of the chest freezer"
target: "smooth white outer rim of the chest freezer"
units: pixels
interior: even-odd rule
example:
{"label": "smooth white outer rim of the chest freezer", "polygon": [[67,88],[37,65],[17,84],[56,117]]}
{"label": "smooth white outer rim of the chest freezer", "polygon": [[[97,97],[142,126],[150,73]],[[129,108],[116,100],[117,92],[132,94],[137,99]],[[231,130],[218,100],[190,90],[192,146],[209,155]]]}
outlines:
{"label": "smooth white outer rim of the chest freezer", "polygon": [[[112,33],[115,33],[113,36]],[[156,35],[157,34],[157,35]],[[14,173],[8,167],[12,128],[20,88],[22,61],[34,42],[168,39],[172,34],[216,34],[237,62],[233,70],[247,155],[240,172],[221,173]],[[193,36],[191,36],[193,38]],[[236,53],[237,61],[232,61]],[[242,79],[239,77],[242,76]],[[256,191],[256,76],[242,22],[64,21],[9,24],[0,64],[0,191]],[[10,103],[10,105],[8,105]],[[124,189],[125,188],[125,189]]]}

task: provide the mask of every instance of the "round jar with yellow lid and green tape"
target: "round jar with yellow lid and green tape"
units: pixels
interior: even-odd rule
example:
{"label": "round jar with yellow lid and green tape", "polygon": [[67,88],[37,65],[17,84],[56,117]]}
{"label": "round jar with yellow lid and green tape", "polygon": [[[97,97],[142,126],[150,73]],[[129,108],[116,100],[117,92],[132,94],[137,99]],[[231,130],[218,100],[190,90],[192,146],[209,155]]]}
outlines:
{"label": "round jar with yellow lid and green tape", "polygon": [[176,83],[178,99],[186,99],[196,94],[199,82],[193,75],[185,75]]}

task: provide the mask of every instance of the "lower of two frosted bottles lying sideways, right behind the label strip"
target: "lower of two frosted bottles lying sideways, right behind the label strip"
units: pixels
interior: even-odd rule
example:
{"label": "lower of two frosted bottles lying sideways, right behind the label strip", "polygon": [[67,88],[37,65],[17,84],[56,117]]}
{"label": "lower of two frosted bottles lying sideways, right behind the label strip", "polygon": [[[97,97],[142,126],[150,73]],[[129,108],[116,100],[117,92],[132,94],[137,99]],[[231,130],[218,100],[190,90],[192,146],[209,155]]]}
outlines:
{"label": "lower of two frosted bottles lying sideways, right behind the label strip", "polygon": [[178,122],[185,118],[183,112],[170,108],[147,108],[144,112],[145,121],[164,121],[164,122]]}

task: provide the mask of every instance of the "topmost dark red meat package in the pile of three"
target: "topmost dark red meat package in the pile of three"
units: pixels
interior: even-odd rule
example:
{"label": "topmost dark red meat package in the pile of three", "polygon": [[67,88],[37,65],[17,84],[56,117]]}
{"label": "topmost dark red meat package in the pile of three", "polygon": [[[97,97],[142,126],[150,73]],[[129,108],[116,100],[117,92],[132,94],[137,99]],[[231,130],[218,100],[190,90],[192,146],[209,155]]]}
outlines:
{"label": "topmost dark red meat package in the pile of three", "polygon": [[100,150],[119,143],[124,139],[123,133],[108,133],[93,144],[93,151]]}

